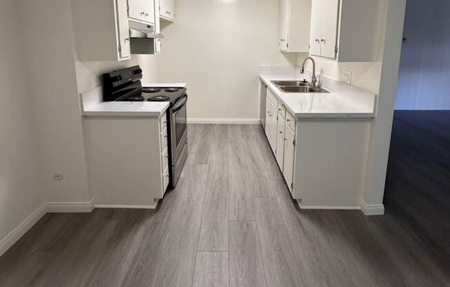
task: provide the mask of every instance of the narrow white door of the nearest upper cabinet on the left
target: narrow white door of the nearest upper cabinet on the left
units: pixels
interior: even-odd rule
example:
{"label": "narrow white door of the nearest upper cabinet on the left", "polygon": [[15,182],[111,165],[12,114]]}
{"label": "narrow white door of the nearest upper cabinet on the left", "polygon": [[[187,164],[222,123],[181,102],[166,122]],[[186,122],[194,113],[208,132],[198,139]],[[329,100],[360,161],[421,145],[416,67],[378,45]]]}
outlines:
{"label": "narrow white door of the nearest upper cabinet on the left", "polygon": [[130,27],[128,26],[128,14],[126,14],[126,0],[117,0],[117,32],[119,60],[130,59]]}

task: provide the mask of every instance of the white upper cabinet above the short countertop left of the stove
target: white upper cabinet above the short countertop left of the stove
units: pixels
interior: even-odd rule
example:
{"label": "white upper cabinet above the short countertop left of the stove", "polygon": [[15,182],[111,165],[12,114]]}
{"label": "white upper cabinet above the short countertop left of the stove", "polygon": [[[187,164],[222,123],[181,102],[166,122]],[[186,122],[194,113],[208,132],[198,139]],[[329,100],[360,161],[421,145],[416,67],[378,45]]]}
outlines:
{"label": "white upper cabinet above the short countertop left of the stove", "polygon": [[72,18],[79,61],[130,59],[126,0],[72,1]]}

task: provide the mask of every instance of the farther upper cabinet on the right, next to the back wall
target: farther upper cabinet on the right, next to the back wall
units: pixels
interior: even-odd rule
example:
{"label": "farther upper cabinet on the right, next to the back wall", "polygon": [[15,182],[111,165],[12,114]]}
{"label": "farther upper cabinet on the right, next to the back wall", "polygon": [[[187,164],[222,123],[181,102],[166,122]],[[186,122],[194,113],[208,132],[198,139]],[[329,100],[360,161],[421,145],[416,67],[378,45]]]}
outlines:
{"label": "farther upper cabinet on the right, next to the back wall", "polygon": [[308,52],[311,0],[281,0],[279,45],[283,52]]}

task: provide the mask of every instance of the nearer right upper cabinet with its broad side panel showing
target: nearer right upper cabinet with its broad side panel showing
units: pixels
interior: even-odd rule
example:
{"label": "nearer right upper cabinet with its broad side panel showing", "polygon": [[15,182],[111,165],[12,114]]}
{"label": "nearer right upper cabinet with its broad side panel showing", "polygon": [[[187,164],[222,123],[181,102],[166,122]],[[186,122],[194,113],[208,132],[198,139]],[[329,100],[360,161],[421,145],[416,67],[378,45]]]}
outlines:
{"label": "nearer right upper cabinet with its broad side panel showing", "polygon": [[310,55],[340,62],[375,61],[380,1],[312,1]]}

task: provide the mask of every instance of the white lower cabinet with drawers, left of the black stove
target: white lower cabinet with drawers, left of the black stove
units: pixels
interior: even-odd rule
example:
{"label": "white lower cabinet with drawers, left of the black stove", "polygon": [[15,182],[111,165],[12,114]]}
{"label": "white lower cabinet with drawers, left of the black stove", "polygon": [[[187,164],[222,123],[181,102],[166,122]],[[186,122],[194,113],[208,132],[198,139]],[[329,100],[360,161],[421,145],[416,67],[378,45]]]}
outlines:
{"label": "white lower cabinet with drawers, left of the black stove", "polygon": [[155,208],[169,185],[167,115],[84,117],[90,190],[99,206]]}

